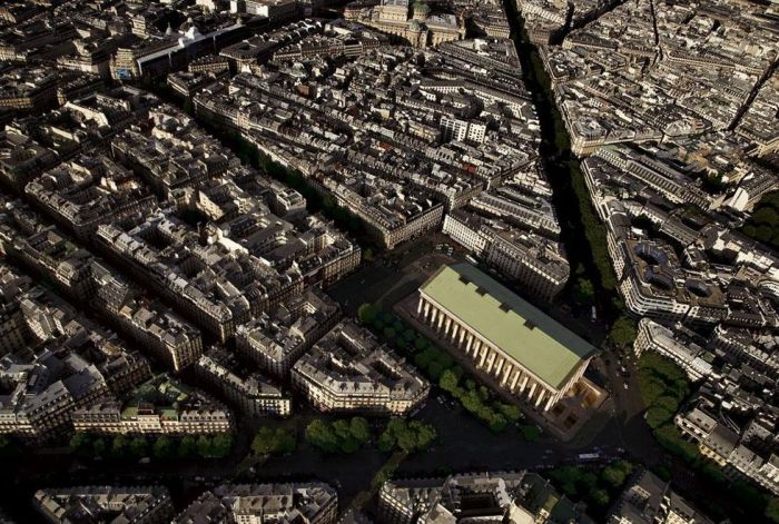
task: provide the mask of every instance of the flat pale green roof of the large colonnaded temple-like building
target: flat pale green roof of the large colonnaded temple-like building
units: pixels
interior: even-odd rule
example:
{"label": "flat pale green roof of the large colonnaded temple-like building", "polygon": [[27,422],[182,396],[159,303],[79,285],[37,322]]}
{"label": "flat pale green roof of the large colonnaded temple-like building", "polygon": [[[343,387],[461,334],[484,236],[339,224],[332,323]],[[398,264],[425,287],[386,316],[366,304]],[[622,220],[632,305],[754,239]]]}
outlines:
{"label": "flat pale green roof of the large colonnaded temple-like building", "polygon": [[470,264],[442,267],[421,290],[553,387],[561,387],[595,352],[586,340]]}

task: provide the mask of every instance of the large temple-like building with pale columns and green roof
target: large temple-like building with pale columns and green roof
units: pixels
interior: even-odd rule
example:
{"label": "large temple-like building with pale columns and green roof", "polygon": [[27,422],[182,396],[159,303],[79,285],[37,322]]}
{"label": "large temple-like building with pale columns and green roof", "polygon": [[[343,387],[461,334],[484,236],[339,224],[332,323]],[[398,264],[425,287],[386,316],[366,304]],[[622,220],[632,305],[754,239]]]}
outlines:
{"label": "large temple-like building with pale columns and green roof", "polygon": [[544,412],[571,392],[596,352],[470,264],[433,274],[420,287],[416,317],[501,388]]}

